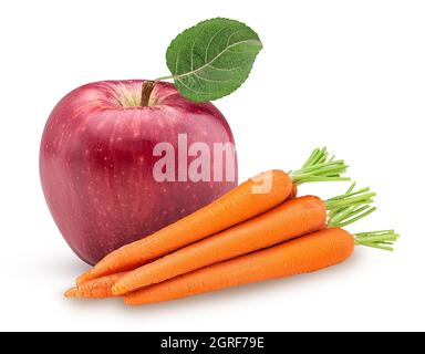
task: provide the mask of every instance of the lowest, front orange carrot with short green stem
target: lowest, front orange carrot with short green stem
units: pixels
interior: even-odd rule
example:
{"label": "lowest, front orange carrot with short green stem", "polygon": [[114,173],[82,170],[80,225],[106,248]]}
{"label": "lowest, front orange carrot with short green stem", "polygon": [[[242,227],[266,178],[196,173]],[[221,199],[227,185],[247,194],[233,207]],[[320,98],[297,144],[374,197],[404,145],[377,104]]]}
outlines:
{"label": "lowest, front orange carrot with short green stem", "polygon": [[392,230],[351,236],[341,228],[330,228],[138,290],[124,301],[128,305],[155,303],[312,272],[346,260],[354,244],[387,247],[396,238]]}

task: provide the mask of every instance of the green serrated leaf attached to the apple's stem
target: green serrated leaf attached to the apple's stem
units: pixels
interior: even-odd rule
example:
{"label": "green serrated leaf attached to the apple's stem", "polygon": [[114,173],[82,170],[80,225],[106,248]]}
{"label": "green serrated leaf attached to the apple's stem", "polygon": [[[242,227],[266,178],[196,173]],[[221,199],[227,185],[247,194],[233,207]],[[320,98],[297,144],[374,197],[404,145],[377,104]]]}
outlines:
{"label": "green serrated leaf attached to the apple's stem", "polygon": [[261,48],[258,34],[249,27],[217,18],[177,35],[167,50],[167,66],[182,95],[207,102],[237,90]]}

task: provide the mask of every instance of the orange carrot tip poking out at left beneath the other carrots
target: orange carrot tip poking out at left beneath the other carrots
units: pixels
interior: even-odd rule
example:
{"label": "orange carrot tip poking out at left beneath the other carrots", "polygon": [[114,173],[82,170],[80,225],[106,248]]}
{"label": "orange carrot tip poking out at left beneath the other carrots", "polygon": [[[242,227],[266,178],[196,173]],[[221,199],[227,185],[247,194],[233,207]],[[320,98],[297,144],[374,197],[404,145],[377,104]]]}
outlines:
{"label": "orange carrot tip poking out at left beneath the other carrots", "polygon": [[66,298],[90,298],[90,299],[104,299],[114,296],[112,287],[122,278],[126,272],[114,273],[97,279],[86,281],[77,287],[71,288],[65,292]]}

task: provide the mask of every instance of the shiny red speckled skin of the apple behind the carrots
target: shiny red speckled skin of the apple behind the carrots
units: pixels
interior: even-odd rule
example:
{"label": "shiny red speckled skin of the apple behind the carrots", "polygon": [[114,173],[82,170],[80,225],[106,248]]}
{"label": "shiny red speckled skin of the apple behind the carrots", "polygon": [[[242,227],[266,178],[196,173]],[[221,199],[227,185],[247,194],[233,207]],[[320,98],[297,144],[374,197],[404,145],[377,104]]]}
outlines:
{"label": "shiny red speckled skin of the apple behind the carrots", "polygon": [[[154,179],[157,143],[170,143],[177,156],[178,134],[187,134],[188,146],[204,142],[211,152],[214,143],[234,143],[234,137],[212,104],[193,103],[169,83],[156,83],[153,106],[128,106],[139,102],[142,84],[81,86],[59,102],[44,127],[40,177],[45,200],[71,249],[90,264],[237,186],[236,162],[234,181]],[[188,156],[188,164],[194,158]],[[210,168],[212,174],[212,158]]]}

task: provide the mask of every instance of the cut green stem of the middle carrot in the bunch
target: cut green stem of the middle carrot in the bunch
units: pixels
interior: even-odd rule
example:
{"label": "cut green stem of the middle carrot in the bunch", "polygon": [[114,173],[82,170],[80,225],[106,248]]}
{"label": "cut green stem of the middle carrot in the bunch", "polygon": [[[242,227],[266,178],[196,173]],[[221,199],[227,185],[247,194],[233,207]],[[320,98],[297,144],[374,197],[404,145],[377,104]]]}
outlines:
{"label": "cut green stem of the middle carrot in the bunch", "polygon": [[328,199],[324,204],[328,209],[328,227],[342,228],[363,219],[376,208],[372,207],[372,197],[376,194],[370,188],[353,191],[355,183],[341,196]]}

